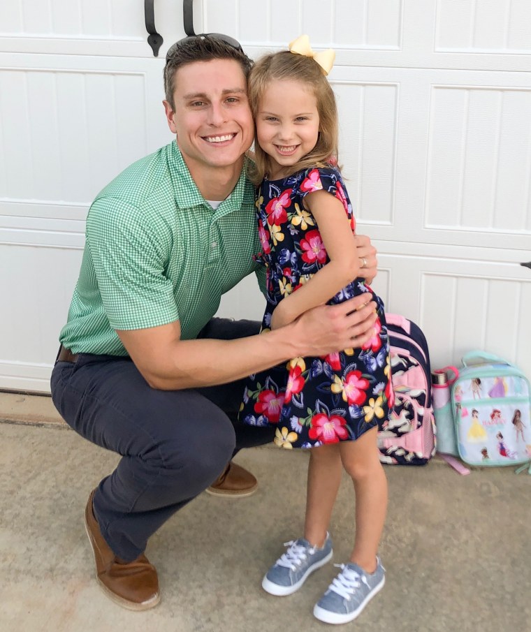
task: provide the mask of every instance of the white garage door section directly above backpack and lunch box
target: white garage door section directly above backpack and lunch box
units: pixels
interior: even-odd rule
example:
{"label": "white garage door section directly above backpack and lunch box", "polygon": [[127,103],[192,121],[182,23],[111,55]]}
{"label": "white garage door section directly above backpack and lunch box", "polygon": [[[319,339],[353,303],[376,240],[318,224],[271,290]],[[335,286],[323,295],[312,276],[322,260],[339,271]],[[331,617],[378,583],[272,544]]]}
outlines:
{"label": "white garage door section directly above backpack and lunch box", "polygon": [[409,279],[419,279],[418,313],[414,293],[395,293],[394,288],[390,307],[421,325],[434,366],[455,362],[467,351],[481,348],[531,373],[531,337],[525,316],[531,278],[523,268],[458,257],[382,259],[391,260],[395,273],[400,267],[409,272],[407,284]]}

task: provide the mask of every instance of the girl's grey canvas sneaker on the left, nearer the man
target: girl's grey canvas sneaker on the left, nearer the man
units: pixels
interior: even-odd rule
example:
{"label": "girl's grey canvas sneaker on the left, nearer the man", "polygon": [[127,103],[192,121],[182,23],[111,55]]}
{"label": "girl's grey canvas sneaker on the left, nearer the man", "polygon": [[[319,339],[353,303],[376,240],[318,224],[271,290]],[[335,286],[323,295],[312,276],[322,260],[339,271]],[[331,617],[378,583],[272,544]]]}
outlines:
{"label": "girl's grey canvas sneaker on the left, nearer the man", "polygon": [[271,566],[262,581],[262,588],[277,596],[291,595],[306,581],[308,575],[317,571],[332,559],[332,540],[326,534],[323,548],[310,545],[304,538],[284,543],[289,547]]}

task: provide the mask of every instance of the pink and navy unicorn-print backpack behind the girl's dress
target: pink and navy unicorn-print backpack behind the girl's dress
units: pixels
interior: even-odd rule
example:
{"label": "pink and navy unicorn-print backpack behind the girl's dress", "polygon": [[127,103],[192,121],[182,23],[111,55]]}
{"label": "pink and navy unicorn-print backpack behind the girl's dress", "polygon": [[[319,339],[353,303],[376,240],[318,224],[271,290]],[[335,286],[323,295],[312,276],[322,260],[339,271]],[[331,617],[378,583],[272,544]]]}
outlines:
{"label": "pink and navy unicorn-print backpack behind the girl's dress", "polygon": [[430,354],[418,325],[386,314],[395,404],[378,432],[380,461],[425,465],[435,454]]}

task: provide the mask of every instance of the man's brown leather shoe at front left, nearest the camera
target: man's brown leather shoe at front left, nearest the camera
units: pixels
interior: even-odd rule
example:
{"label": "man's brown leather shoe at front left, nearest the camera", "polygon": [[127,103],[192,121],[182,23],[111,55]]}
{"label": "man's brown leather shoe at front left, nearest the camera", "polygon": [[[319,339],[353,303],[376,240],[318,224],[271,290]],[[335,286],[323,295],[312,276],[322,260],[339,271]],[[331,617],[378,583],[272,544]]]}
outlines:
{"label": "man's brown leather shoe at front left, nearest the camera", "polygon": [[89,496],[85,509],[85,528],[96,562],[96,581],[103,592],[115,603],[129,610],[154,608],[161,596],[155,567],[145,555],[140,555],[127,564],[118,564],[117,557],[109,548],[94,516],[92,499]]}

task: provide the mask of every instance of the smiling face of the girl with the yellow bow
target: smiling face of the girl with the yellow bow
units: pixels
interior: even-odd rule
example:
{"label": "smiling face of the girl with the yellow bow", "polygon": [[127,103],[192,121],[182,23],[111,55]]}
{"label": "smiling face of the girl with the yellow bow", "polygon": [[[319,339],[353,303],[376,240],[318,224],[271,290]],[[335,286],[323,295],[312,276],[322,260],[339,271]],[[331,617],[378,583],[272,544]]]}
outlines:
{"label": "smiling face of the girl with the yellow bow", "polygon": [[270,179],[289,175],[319,136],[317,99],[306,84],[273,80],[256,112],[256,137],[270,156]]}

